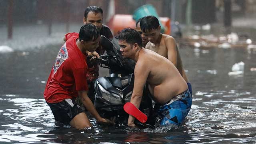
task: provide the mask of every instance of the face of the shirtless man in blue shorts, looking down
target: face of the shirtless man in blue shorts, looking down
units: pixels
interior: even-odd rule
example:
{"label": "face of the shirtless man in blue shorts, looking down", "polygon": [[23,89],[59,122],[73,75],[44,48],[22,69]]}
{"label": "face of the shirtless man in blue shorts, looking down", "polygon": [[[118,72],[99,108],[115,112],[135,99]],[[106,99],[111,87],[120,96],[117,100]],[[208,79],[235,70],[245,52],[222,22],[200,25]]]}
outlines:
{"label": "face of the shirtless man in blue shorts, looking down", "polygon": [[131,58],[133,55],[133,46],[126,43],[126,40],[118,40],[118,45],[120,46],[120,52],[123,58]]}

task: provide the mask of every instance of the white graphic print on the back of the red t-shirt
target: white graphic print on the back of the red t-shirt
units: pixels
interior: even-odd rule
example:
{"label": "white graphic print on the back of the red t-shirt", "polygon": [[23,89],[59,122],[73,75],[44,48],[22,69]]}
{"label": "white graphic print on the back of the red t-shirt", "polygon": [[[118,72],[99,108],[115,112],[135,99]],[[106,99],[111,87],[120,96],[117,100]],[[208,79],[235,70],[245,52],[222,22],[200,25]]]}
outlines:
{"label": "white graphic print on the back of the red t-shirt", "polygon": [[57,72],[60,65],[68,58],[68,50],[66,48],[66,43],[60,48],[60,51],[58,52],[58,55],[55,59],[55,63],[53,66],[54,74]]}

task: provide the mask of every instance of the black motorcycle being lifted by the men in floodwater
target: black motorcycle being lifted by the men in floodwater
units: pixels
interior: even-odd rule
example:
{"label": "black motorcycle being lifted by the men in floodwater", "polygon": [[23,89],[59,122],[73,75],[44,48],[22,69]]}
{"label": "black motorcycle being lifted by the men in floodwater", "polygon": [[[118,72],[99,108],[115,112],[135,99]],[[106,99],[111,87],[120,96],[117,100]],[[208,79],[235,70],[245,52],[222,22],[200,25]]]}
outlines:
{"label": "black motorcycle being lifted by the men in floodwater", "polygon": [[[130,102],[134,86],[135,62],[125,59],[120,53],[118,40],[115,38],[110,42],[101,36],[100,44],[106,49],[106,54],[96,58],[102,68],[110,69],[110,75],[96,79],[94,89],[96,91],[94,106],[100,116],[111,119],[116,118],[116,126],[125,126],[128,122],[128,114],[124,111],[124,104]],[[148,116],[145,124],[135,120],[136,126],[140,128],[154,127],[152,115],[152,100],[148,96],[149,91],[144,87],[140,110]]]}

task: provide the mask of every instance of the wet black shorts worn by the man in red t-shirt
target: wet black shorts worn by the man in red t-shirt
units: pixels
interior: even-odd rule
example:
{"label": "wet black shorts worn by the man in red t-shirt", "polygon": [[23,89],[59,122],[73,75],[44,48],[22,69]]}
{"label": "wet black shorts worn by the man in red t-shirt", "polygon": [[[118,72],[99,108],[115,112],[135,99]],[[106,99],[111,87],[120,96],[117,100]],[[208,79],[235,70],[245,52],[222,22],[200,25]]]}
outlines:
{"label": "wet black shorts worn by the man in red t-shirt", "polygon": [[58,103],[46,103],[50,106],[55,121],[63,124],[70,124],[76,115],[84,112],[74,99],[66,99]]}

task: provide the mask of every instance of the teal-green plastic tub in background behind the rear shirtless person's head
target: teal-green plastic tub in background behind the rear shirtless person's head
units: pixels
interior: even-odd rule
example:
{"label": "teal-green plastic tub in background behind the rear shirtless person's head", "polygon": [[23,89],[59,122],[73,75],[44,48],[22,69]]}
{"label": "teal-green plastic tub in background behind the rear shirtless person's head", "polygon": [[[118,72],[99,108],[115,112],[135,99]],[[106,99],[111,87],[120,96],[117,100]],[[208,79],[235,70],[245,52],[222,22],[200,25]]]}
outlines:
{"label": "teal-green plastic tub in background behind the rear shirtless person's head", "polygon": [[143,6],[140,6],[139,8],[137,8],[134,11],[134,14],[132,16],[132,18],[137,21],[138,19],[144,17],[144,16],[155,16],[156,18],[158,18],[159,24],[161,26],[161,33],[164,33],[165,27],[163,26],[162,22],[159,20],[159,16],[156,12],[156,9],[154,8],[154,6],[152,6],[152,4],[146,4]]}

